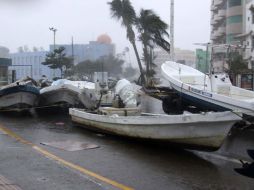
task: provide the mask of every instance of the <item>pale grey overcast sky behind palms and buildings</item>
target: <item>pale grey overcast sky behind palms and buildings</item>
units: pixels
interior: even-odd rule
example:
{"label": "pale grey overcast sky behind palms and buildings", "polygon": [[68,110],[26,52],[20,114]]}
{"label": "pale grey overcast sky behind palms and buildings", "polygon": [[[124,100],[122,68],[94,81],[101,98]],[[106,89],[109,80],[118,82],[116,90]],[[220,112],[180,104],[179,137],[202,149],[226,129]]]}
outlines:
{"label": "pale grey overcast sky behind palms and buildings", "polygon": [[[19,46],[43,47],[53,43],[49,27],[58,29],[56,43],[84,44],[107,33],[117,52],[130,47],[125,29],[110,16],[109,0],[0,0],[0,46],[16,52]],[[170,24],[170,0],[131,0],[136,11],[153,9]],[[210,0],[175,0],[175,46],[194,49],[208,42]]]}

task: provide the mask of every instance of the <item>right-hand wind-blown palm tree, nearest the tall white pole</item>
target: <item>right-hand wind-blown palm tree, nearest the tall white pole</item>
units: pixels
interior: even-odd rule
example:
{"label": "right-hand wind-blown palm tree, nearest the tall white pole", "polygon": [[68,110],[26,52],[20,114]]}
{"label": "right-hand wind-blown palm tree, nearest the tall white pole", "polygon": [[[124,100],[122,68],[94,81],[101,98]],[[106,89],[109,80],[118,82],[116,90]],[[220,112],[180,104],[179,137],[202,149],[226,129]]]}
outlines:
{"label": "right-hand wind-blown palm tree, nearest the tall white pole", "polygon": [[164,37],[169,37],[168,25],[160,19],[152,10],[141,9],[139,17],[136,19],[136,27],[140,33],[139,39],[143,43],[144,59],[146,62],[146,75],[150,75],[152,65],[151,53],[154,45],[162,47],[167,52],[170,51],[170,44]]}

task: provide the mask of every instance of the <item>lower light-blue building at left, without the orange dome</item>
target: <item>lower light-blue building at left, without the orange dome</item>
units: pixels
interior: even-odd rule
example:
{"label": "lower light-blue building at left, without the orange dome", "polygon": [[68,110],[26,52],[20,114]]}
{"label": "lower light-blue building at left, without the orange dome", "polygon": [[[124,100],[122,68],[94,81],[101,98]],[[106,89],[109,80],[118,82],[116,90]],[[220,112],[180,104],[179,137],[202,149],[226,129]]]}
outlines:
{"label": "lower light-blue building at left, without the orange dome", "polygon": [[16,70],[16,79],[21,79],[29,76],[35,80],[42,78],[45,75],[47,78],[60,77],[59,69],[50,69],[48,66],[41,64],[45,61],[47,51],[38,52],[19,52],[12,53],[12,66],[9,70]]}

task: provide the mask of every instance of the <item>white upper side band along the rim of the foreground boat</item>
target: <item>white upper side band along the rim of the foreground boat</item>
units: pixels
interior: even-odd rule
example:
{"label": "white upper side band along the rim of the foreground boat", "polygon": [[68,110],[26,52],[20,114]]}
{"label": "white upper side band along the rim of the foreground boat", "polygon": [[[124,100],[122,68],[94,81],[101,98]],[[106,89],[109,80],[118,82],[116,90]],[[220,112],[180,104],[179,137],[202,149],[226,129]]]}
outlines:
{"label": "white upper side band along the rim of the foreground boat", "polygon": [[[82,116],[86,116],[85,118],[89,120],[94,120],[97,122],[104,122],[104,123],[115,123],[115,124],[122,124],[122,125],[143,125],[143,124],[150,124],[150,125],[172,125],[172,124],[187,124],[187,123],[199,123],[199,122],[229,122],[232,121],[237,122],[240,121],[241,118],[230,112],[209,112],[205,114],[185,114],[185,115],[152,115],[152,116],[109,116],[109,115],[99,115],[95,113],[88,113],[84,110],[77,109],[77,108],[70,108],[69,109],[70,115],[74,115],[76,117],[82,118]],[[223,114],[222,114],[223,113]],[[207,118],[207,116],[211,116],[211,118]],[[162,120],[163,119],[163,120]],[[194,120],[194,121],[193,121]]]}

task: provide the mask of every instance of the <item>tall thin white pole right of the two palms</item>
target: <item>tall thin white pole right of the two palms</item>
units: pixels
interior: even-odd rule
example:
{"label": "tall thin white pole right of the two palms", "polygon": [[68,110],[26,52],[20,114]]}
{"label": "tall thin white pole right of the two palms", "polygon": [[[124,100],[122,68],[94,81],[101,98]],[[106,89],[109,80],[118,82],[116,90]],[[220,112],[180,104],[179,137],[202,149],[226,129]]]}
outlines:
{"label": "tall thin white pole right of the two palms", "polygon": [[175,3],[174,0],[171,0],[170,4],[170,60],[174,61],[175,60],[175,47],[174,47],[174,17],[175,14]]}

